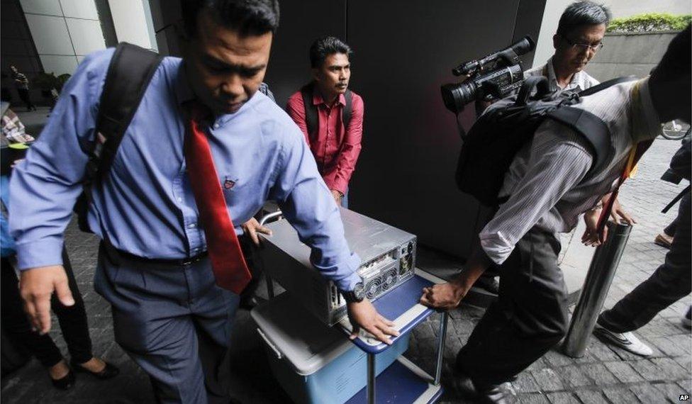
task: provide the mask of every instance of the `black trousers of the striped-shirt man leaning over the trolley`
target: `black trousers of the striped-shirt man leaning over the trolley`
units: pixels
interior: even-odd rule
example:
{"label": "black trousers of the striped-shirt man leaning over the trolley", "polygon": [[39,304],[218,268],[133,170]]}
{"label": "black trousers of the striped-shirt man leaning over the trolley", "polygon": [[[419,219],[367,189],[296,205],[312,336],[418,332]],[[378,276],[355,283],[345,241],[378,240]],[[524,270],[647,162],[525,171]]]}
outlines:
{"label": "black trousers of the striped-shirt man leaning over the trolley", "polygon": [[500,293],[469,341],[457,367],[474,381],[502,383],[526,369],[567,332],[567,288],[557,266],[560,242],[532,228],[500,266]]}

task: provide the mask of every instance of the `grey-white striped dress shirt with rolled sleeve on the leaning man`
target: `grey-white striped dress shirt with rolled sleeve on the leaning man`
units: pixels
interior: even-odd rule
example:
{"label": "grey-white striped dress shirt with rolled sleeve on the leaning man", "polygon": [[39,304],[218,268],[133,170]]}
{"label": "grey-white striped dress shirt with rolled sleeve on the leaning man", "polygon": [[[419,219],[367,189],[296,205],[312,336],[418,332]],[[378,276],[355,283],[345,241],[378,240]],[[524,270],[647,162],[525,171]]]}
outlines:
{"label": "grey-white striped dress shirt with rolled sleeve on the leaning man", "polygon": [[[632,100],[635,83],[640,83],[640,102]],[[581,213],[612,191],[634,139],[653,139],[661,130],[648,79],[612,86],[584,97],[574,107],[608,125],[612,144],[608,164],[587,177],[592,157],[586,140],[553,120],[542,123],[505,175],[499,195],[510,198],[479,234],[481,246],[496,264],[502,264],[534,226],[549,232],[571,231]]]}

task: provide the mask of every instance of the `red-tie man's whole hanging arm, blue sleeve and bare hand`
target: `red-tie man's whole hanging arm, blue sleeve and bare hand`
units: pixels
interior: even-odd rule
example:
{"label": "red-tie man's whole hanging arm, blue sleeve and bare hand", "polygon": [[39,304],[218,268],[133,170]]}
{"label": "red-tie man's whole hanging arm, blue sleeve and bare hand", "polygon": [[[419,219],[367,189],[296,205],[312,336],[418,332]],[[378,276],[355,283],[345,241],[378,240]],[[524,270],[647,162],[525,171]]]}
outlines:
{"label": "red-tie man's whole hanging arm, blue sleeve and bare hand", "polygon": [[[62,267],[63,232],[82,192],[96,109],[113,50],[79,64],[50,119],[10,181],[10,231],[16,239],[21,296],[33,327],[50,330],[50,296],[74,304]],[[84,150],[83,150],[84,147]]]}

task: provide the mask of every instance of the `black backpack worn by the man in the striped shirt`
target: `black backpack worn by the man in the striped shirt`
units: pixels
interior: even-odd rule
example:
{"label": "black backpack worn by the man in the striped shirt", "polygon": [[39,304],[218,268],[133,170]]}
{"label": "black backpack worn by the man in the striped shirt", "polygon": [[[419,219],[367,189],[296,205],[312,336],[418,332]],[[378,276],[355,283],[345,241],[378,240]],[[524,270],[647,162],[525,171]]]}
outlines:
{"label": "black backpack worn by the man in the striped shirt", "polygon": [[545,119],[557,120],[584,136],[593,155],[587,178],[600,172],[608,164],[612,147],[608,126],[593,113],[571,106],[583,96],[633,79],[620,77],[577,93],[550,92],[545,77],[528,77],[517,96],[490,106],[469,130],[459,153],[457,186],[482,205],[496,207],[503,203],[498,193],[505,174],[517,152]]}

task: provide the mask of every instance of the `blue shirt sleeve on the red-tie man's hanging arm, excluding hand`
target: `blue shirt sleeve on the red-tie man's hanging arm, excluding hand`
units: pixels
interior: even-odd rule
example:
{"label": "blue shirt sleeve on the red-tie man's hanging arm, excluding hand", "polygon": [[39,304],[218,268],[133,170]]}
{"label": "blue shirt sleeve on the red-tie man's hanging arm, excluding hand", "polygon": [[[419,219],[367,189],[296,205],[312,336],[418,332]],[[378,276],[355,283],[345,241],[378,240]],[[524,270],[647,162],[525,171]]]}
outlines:
{"label": "blue shirt sleeve on the red-tie man's hanging arm, excluding hand", "polygon": [[63,232],[88,160],[82,145],[94,138],[102,79],[94,62],[101,61],[87,57],[79,64],[40,137],[12,173],[10,229],[20,270],[62,265]]}

